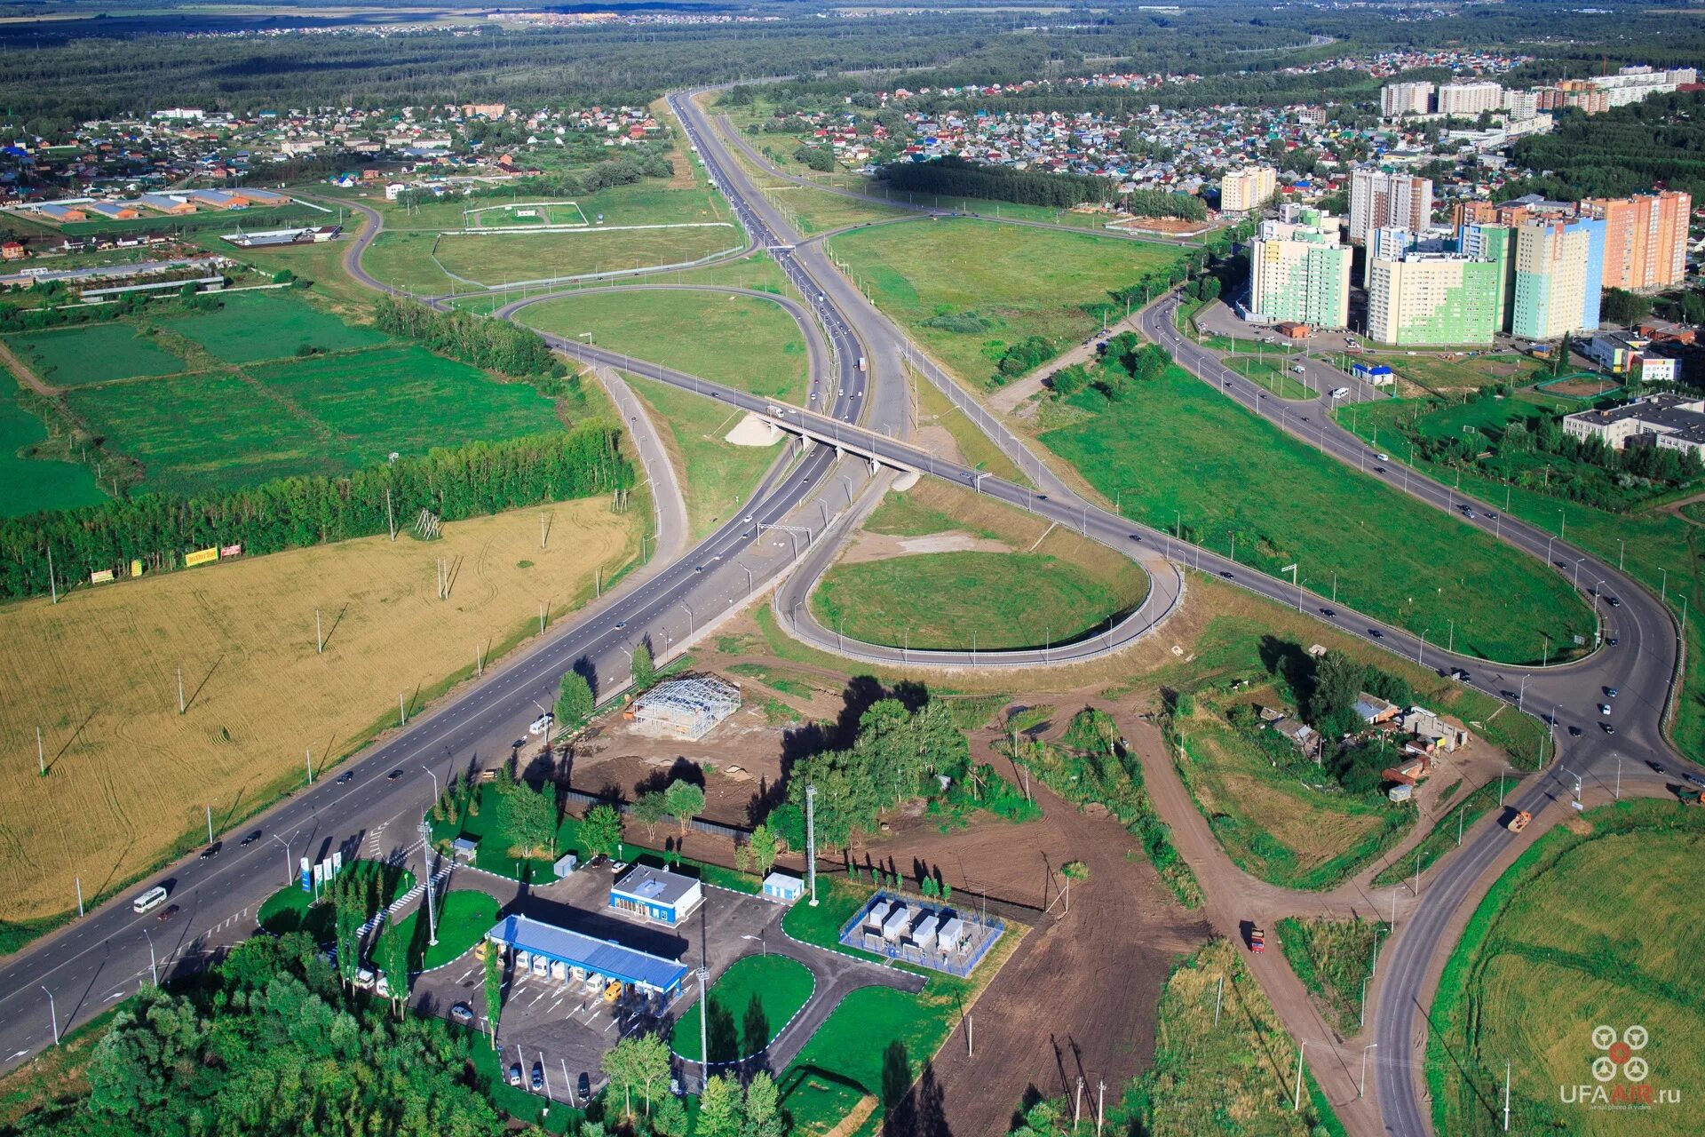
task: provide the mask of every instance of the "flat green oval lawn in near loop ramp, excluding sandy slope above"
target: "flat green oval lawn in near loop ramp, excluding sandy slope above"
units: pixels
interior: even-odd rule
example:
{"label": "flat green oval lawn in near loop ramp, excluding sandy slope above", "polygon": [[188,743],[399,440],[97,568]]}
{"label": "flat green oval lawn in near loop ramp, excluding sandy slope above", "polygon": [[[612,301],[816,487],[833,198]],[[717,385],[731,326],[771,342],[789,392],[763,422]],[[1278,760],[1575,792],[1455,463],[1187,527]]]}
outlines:
{"label": "flat green oval lawn in near loop ramp, excluding sandy slope above", "polygon": [[1042,648],[1127,607],[1108,581],[1035,552],[928,552],[837,564],[812,593],[830,631],[910,648]]}

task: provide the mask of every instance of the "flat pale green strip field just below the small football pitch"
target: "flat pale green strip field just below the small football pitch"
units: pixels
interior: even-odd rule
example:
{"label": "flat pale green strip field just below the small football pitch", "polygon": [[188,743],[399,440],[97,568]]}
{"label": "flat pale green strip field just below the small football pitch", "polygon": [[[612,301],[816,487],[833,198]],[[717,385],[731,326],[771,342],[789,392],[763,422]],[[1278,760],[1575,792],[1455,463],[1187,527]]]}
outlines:
{"label": "flat pale green strip field just below the small football pitch", "polygon": [[[505,232],[491,237],[440,237],[433,252],[445,271],[479,285],[614,273],[653,264],[684,264],[737,249],[733,225],[680,228],[590,228],[581,232]],[[377,274],[377,273],[375,273]]]}

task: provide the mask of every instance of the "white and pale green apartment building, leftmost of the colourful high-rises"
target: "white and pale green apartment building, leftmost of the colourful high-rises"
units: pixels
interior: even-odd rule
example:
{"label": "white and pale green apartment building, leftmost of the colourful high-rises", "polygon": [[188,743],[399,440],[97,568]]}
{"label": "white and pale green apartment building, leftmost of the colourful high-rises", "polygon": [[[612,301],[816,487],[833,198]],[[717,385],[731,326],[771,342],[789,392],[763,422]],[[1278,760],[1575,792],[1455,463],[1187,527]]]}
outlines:
{"label": "white and pale green apartment building, leftmost of the colourful high-rises", "polygon": [[1292,220],[1262,222],[1250,242],[1250,303],[1245,317],[1260,324],[1296,320],[1315,327],[1347,327],[1350,256],[1330,213],[1311,210],[1294,213]]}

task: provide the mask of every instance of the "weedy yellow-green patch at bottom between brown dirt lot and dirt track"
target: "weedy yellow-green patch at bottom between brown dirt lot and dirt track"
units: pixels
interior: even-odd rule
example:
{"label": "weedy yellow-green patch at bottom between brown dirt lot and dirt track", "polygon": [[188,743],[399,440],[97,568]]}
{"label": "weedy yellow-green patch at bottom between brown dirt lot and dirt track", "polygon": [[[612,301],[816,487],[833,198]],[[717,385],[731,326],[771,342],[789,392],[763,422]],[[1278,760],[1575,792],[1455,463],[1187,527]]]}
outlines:
{"label": "weedy yellow-green patch at bottom between brown dirt lot and dirt track", "polygon": [[[1219,1023],[1214,1002],[1224,980]],[[1291,1110],[1298,1048],[1250,977],[1236,944],[1216,939],[1173,968],[1161,992],[1154,1064],[1124,1108],[1147,1137],[1318,1137],[1342,1125],[1308,1079]]]}

